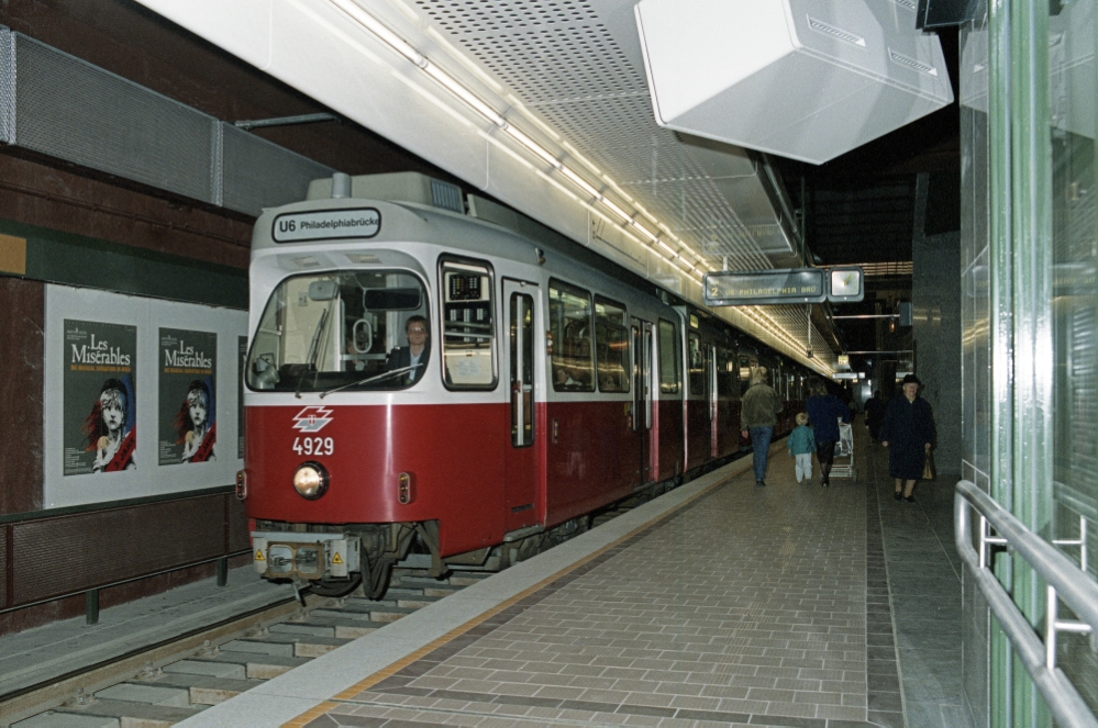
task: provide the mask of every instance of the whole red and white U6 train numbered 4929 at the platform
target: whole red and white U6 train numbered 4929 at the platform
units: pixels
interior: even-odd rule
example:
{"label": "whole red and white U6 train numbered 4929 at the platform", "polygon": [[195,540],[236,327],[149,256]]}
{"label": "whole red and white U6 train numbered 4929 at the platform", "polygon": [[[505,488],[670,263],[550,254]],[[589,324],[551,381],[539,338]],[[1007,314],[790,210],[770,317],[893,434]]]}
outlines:
{"label": "whole red and white U6 train numbered 4929 at the platform", "polygon": [[265,576],[378,597],[409,555],[524,558],[739,452],[758,365],[790,428],[808,370],[547,229],[377,199],[410,189],[464,210],[336,175],[256,223],[237,495]]}

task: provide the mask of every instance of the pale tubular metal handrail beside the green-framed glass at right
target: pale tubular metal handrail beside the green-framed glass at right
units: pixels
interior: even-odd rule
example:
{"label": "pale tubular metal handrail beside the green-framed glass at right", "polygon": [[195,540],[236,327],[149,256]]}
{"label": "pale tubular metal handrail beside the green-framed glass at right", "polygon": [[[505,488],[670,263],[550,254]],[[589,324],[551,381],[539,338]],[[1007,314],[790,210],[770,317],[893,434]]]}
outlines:
{"label": "pale tubular metal handrail beside the green-framed glass at right", "polygon": [[[972,542],[971,508],[980,514],[978,552]],[[1095,625],[1098,625],[1098,583],[972,481],[963,480],[957,483],[953,499],[953,523],[957,552],[975,578],[1025,671],[1044,696],[1056,724],[1098,728],[1098,718],[1063,670],[1055,665],[1057,631],[1093,634]],[[988,526],[995,528],[998,537],[989,535]],[[1045,616],[1044,643],[989,570],[987,553],[992,544],[1006,544],[1047,584],[1050,608]],[[1067,604],[1082,621],[1057,620],[1057,600]]]}

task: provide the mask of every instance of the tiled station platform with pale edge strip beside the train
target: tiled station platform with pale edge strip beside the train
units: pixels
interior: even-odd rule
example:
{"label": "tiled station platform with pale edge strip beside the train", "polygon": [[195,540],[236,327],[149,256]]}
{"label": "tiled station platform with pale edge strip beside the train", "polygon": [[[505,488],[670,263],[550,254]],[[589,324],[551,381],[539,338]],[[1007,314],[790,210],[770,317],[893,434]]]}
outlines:
{"label": "tiled station platform with pale edge strip beside the train", "polygon": [[952,479],[797,484],[785,441],[178,724],[967,725]]}

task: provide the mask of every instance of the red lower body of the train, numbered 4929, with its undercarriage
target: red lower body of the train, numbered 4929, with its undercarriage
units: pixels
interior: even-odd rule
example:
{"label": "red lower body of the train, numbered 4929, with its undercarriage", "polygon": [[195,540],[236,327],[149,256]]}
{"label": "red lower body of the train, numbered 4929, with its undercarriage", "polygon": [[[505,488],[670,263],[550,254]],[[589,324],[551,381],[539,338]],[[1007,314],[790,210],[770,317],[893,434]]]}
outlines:
{"label": "red lower body of the train, numbered 4929, with its undercarriage", "polygon": [[[742,448],[737,401],[651,404],[645,428],[628,400],[536,403],[525,447],[513,445],[506,402],[248,406],[242,488],[256,569],[332,594],[363,578],[375,598],[413,551],[436,575],[498,569]],[[776,436],[796,403],[787,410]],[[324,472],[322,497],[287,486],[303,458]]]}

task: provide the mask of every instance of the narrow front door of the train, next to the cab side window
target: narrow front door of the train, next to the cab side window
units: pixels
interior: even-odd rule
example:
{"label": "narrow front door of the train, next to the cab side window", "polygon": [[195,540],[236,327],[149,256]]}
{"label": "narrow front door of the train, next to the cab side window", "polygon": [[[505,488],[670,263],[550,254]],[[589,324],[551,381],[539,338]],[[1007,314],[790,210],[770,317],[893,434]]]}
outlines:
{"label": "narrow front door of the train, next to the cab side window", "polygon": [[542,450],[544,436],[537,417],[534,332],[541,325],[541,295],[536,283],[503,279],[503,331],[507,332],[509,441],[504,456],[507,530],[541,523],[544,512]]}

